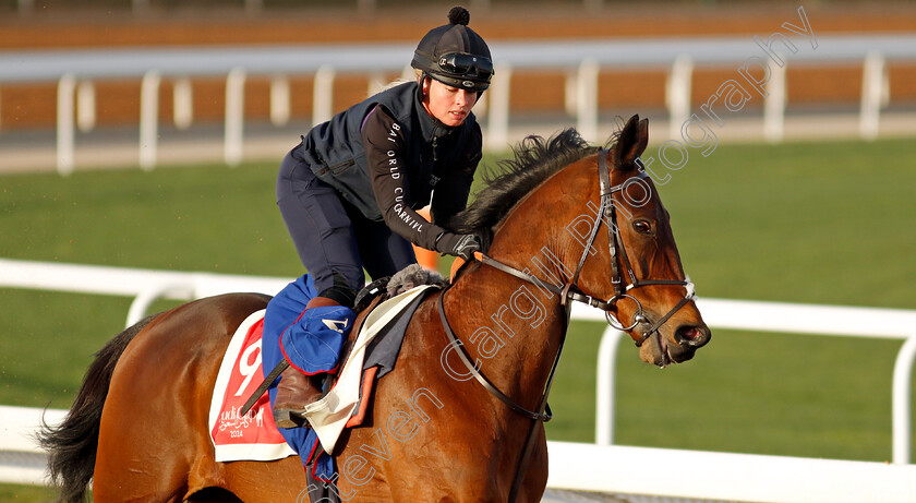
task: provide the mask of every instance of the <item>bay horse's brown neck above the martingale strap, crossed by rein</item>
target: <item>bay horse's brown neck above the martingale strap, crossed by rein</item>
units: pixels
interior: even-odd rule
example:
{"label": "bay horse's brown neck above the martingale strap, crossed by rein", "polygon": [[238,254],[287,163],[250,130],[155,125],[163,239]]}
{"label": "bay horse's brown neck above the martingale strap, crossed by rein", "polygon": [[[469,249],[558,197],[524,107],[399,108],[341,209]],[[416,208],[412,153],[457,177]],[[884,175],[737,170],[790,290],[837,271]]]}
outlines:
{"label": "bay horse's brown neck above the martingale strap, crossed by rein", "polygon": [[[506,216],[491,256],[547,283],[565,284],[582,251],[567,227],[587,209],[589,195],[577,171],[557,173]],[[581,204],[572,201],[579,197]],[[489,379],[511,390],[501,387],[509,396],[527,396],[525,404],[533,406],[566,330],[559,296],[483,264],[461,276],[446,296],[446,310],[455,313],[449,319],[461,320],[463,332],[456,333]]]}

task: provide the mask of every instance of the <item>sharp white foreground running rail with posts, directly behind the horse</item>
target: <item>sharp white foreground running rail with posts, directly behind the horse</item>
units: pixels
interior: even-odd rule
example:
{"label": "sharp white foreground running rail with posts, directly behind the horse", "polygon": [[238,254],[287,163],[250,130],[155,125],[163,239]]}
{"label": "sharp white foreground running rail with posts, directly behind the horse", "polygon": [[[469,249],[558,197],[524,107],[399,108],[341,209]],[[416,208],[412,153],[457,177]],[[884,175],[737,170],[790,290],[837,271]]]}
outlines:
{"label": "sharp white foreground running rail with posts, directly behind the horse", "polygon": [[[128,325],[159,298],[190,300],[230,291],[273,295],[290,280],[0,259],[0,288],[133,297]],[[905,339],[893,379],[893,464],[608,445],[613,364],[622,338],[608,328],[599,350],[598,445],[549,442],[549,487],[732,501],[916,503],[916,465],[909,464],[916,311],[719,299],[701,299],[699,308],[714,328]],[[572,316],[603,320],[601,312],[579,307]],[[0,482],[45,483],[46,458],[33,440],[41,414],[0,406]],[[46,414],[55,423],[65,411]]]}

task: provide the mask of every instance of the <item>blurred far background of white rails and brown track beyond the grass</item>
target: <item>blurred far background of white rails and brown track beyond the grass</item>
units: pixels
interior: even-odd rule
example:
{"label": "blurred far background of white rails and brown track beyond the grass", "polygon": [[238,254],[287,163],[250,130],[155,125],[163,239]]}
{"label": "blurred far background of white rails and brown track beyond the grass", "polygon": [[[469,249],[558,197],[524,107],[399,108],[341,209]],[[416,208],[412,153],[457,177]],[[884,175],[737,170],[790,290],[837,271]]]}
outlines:
{"label": "blurred far background of white rails and brown track beyond the grass", "polygon": [[[401,76],[415,40],[429,26],[445,22],[451,3],[0,4],[5,7],[0,9],[0,73],[43,58],[61,69],[65,64],[53,58],[82,61],[75,72],[61,70],[43,79],[0,76],[0,169],[67,172],[76,165],[276,161],[313,123]],[[617,117],[634,112],[650,117],[655,142],[677,139],[690,111],[699,111],[734,79],[747,58],[766,56],[755,36],[788,33],[784,23],[803,25],[799,7],[821,40],[818,47],[793,38],[800,50],[787,53],[784,73],[770,79],[778,92],[766,105],[755,95],[740,113],[726,118],[716,140],[916,134],[916,59],[888,55],[916,53],[916,7],[909,4],[704,1],[631,7],[594,0],[493,0],[469,7],[471,26],[492,40],[494,59],[504,63],[475,109],[489,124],[491,151],[565,125],[602,141]],[[885,37],[887,46],[872,46]],[[570,47],[572,40],[591,49]],[[846,40],[843,57],[825,57],[835,47],[824,40]],[[687,58],[678,60],[673,49],[663,57],[643,56],[652,44],[683,47]],[[773,45],[779,49],[779,41]],[[387,47],[395,56],[386,56],[391,62],[384,64],[377,59],[365,71],[354,71],[354,58],[347,53],[337,64],[302,63],[333,57],[330,47],[341,46],[355,51]],[[563,64],[547,60],[549,49],[563,47]],[[200,71],[168,73],[155,64],[143,72],[104,71],[106,59],[118,64],[118,57],[126,58],[135,67],[154,51],[166,58],[170,51],[174,61],[183,58]],[[256,51],[275,55],[285,68],[245,72],[242,60],[246,55],[260,58],[251,53]],[[230,75],[233,53],[241,70]],[[367,57],[372,55],[363,59]],[[507,64],[525,58],[521,64]],[[225,68],[204,72],[201,61]]]}

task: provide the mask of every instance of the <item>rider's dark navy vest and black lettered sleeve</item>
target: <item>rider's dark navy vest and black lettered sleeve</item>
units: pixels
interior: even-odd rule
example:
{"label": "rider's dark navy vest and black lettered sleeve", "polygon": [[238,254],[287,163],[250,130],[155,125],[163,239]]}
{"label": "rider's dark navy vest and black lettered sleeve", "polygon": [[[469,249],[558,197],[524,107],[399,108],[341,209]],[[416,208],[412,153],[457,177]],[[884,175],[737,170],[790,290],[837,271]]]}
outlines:
{"label": "rider's dark navy vest and black lettered sleeve", "polygon": [[[465,208],[481,158],[473,113],[449,128],[423,108],[417,82],[383,91],[313,128],[293,152],[366,218],[434,249]],[[432,220],[415,209],[430,204]]]}

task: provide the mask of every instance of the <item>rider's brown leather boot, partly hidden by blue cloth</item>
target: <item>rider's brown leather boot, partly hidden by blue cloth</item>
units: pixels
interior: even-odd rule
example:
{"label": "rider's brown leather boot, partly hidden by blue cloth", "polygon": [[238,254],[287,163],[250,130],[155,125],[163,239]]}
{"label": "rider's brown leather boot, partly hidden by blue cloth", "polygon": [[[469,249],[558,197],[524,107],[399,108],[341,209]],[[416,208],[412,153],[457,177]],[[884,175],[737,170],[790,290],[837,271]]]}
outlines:
{"label": "rider's brown leather boot, partly hidden by blue cloth", "polygon": [[[315,297],[309,301],[305,310],[338,306],[340,303],[334,299]],[[302,318],[305,316],[306,314],[303,313]],[[302,426],[302,418],[294,412],[301,412],[305,406],[321,398],[322,390],[318,384],[323,374],[304,374],[293,366],[284,370],[280,382],[277,384],[277,396],[274,399],[274,422],[278,428]]]}

